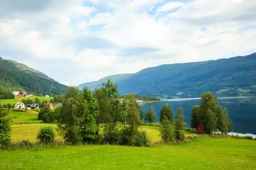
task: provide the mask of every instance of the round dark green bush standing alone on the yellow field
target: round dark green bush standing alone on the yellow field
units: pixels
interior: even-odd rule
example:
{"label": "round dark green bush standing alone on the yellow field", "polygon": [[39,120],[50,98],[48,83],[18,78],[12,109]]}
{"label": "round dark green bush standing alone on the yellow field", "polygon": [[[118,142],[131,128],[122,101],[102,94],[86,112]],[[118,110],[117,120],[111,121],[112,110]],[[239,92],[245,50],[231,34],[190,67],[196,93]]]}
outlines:
{"label": "round dark green bush standing alone on the yellow field", "polygon": [[37,139],[40,143],[52,143],[55,138],[53,127],[41,127]]}

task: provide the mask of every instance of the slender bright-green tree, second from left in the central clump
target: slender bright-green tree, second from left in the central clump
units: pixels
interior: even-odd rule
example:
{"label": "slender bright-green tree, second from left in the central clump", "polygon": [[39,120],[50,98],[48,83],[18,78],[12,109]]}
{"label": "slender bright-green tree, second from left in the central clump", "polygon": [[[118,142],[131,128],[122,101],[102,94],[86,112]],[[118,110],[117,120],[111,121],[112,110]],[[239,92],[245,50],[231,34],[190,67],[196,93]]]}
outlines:
{"label": "slender bright-green tree, second from left in the central clump", "polygon": [[87,143],[95,143],[98,137],[96,116],[98,115],[99,106],[96,98],[91,94],[87,87],[83,89],[82,97],[85,104],[85,117],[84,122],[82,123],[83,141]]}

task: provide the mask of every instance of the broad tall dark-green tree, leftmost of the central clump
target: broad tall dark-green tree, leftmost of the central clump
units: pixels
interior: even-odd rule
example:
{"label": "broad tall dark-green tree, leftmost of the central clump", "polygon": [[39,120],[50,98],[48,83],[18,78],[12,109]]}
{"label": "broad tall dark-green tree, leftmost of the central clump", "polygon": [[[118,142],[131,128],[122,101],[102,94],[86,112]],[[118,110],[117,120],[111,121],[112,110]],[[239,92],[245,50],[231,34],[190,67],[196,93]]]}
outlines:
{"label": "broad tall dark-green tree, leftmost of the central clump", "polygon": [[85,105],[76,87],[67,89],[58,119],[58,132],[72,145],[82,141],[81,128],[85,118]]}

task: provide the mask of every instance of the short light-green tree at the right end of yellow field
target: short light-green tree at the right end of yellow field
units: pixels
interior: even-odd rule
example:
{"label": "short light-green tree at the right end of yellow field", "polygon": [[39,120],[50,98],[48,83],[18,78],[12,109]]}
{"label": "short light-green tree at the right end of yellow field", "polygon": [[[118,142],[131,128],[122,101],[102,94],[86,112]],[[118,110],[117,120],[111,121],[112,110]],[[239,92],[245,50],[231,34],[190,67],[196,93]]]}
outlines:
{"label": "short light-green tree at the right end of yellow field", "polygon": [[175,127],[171,121],[164,116],[160,127],[160,137],[164,143],[172,142],[175,139]]}

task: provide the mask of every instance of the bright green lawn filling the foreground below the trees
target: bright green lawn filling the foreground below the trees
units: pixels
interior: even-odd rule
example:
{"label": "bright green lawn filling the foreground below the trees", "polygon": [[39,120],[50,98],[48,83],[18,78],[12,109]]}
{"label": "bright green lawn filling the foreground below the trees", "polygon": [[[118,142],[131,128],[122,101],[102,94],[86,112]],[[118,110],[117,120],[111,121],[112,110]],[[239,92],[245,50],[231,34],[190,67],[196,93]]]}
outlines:
{"label": "bright green lawn filling the foreground below the trees", "polygon": [[0,164],[23,169],[255,169],[256,141],[200,139],[177,145],[62,146],[0,150]]}

